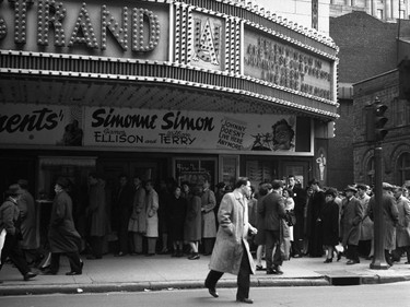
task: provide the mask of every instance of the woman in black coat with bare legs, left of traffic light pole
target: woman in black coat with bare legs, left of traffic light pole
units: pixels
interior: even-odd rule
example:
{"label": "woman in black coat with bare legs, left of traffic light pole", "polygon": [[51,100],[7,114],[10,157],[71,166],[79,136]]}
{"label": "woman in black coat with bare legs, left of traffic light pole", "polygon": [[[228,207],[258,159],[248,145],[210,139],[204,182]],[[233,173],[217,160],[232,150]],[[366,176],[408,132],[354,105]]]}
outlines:
{"label": "woman in black coat with bare legs, left of traffic light pole", "polygon": [[[324,246],[327,249],[325,263],[333,261],[335,246],[339,244],[339,205],[335,202],[338,191],[329,188],[325,191],[326,204],[321,210]],[[339,259],[339,258],[338,258]]]}

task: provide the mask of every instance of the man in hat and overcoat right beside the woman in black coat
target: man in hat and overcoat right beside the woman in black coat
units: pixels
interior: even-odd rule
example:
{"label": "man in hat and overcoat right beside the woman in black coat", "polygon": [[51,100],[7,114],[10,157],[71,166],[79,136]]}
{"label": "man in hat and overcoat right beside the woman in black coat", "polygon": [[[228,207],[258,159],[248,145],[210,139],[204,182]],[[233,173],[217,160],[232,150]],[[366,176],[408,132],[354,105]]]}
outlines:
{"label": "man in hat and overcoat right beside the woman in black coat", "polygon": [[340,226],[343,247],[347,248],[345,257],[349,259],[345,264],[360,263],[358,246],[364,211],[362,203],[355,198],[356,192],[355,186],[348,186],[342,201]]}

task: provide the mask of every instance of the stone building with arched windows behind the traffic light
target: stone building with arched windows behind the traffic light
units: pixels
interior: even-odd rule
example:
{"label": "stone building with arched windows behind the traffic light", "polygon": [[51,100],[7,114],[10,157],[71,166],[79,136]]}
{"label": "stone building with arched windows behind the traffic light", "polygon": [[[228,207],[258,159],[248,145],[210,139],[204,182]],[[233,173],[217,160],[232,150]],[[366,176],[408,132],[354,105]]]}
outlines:
{"label": "stone building with arched windows behind the traffic light", "polygon": [[[388,133],[380,144],[383,149],[383,180],[398,186],[410,186],[410,96],[403,94],[402,82],[408,82],[409,60],[398,69],[358,82],[354,88],[354,180],[374,184],[374,144],[365,140],[363,108],[376,98],[388,107]],[[408,86],[407,86],[408,87]]]}

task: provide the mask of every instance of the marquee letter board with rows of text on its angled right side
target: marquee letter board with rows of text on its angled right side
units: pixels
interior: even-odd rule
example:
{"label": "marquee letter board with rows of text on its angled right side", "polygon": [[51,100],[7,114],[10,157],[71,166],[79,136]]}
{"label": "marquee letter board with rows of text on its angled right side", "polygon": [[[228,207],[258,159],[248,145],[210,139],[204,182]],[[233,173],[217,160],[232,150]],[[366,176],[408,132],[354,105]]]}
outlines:
{"label": "marquee letter board with rows of text on its angled right side", "polygon": [[332,62],[245,28],[244,73],[298,93],[332,99]]}

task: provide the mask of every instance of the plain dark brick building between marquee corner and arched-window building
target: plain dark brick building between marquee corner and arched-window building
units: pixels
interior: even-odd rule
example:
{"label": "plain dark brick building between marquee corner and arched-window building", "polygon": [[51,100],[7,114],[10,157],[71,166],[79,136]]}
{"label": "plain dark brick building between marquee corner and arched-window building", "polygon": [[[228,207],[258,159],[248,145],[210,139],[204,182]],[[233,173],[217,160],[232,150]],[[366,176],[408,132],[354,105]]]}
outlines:
{"label": "plain dark brick building between marquee corner and arched-window building", "polygon": [[[400,33],[399,39],[398,33]],[[353,118],[361,109],[356,105],[353,106],[353,84],[363,80],[373,80],[397,68],[400,59],[409,54],[410,26],[409,21],[401,21],[400,24],[387,23],[365,12],[353,11],[330,19],[330,36],[340,47],[338,71],[340,118],[336,120],[336,138],[329,142],[328,184],[343,188],[349,182],[365,179],[356,174],[360,162],[353,150],[353,143],[359,141],[356,133],[363,130],[362,121],[353,122]],[[355,92],[355,95],[358,94]]]}

